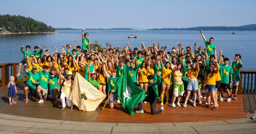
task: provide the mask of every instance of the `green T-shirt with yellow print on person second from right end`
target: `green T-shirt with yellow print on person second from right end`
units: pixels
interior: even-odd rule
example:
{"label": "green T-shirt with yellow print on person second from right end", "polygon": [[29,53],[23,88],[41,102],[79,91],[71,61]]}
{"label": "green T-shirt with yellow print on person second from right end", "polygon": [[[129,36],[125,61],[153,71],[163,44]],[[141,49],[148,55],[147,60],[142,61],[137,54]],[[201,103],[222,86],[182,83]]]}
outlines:
{"label": "green T-shirt with yellow print on person second from right end", "polygon": [[228,65],[228,66],[225,66],[225,65],[220,66],[220,78],[221,78],[220,83],[228,84],[229,83],[229,75],[230,74],[233,74],[233,69],[232,69],[232,67],[230,65]]}

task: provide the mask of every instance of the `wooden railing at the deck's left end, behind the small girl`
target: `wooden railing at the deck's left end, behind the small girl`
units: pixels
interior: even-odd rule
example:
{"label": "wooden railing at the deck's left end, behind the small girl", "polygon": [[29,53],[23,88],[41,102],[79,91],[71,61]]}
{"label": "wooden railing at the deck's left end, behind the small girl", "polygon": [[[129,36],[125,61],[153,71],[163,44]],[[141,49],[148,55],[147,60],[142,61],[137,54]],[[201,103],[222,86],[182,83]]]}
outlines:
{"label": "wooden railing at the deck's left end, behind the small girl", "polygon": [[[2,64],[0,64],[1,79],[2,79],[1,86],[2,87],[6,87],[6,85],[9,82],[10,76],[14,76],[14,78],[16,79],[17,65],[19,65],[19,63],[2,63]],[[16,83],[24,83],[24,81],[19,81]]]}

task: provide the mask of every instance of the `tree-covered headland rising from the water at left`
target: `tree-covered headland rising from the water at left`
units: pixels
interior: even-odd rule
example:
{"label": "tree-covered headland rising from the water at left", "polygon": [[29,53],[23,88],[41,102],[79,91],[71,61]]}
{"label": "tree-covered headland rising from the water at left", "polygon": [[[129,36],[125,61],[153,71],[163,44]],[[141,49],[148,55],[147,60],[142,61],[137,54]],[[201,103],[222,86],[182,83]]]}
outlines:
{"label": "tree-covered headland rising from the water at left", "polygon": [[51,33],[52,26],[25,16],[0,15],[0,33]]}

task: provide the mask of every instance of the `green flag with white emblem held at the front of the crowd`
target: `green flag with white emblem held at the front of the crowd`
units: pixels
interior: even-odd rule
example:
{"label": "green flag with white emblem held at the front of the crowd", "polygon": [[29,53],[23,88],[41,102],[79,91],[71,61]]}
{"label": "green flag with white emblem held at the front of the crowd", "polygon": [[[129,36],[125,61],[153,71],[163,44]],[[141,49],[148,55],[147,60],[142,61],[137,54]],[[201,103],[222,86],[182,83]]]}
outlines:
{"label": "green flag with white emblem held at the front of the crowd", "polygon": [[133,109],[145,99],[145,92],[132,82],[127,67],[124,67],[124,71],[118,78],[114,89],[116,89],[124,109],[128,110],[129,114],[134,115]]}

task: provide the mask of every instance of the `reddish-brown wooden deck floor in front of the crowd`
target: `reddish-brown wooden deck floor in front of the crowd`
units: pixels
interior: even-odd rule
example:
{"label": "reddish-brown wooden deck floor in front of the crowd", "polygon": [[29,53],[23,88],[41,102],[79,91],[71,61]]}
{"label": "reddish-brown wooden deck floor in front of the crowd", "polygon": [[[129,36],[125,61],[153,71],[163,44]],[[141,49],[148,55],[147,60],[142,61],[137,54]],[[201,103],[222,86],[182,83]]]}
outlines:
{"label": "reddish-brown wooden deck floor in front of the crowd", "polygon": [[[41,104],[29,101],[28,104],[24,104],[25,97],[23,86],[24,85],[18,84],[18,92],[17,96],[15,97],[17,103],[13,105],[8,104],[8,88],[0,87],[0,113],[31,118],[47,118],[69,121],[135,123],[213,121],[244,118],[244,115],[247,115],[247,113],[244,111],[243,95],[238,95],[237,101],[232,100],[231,102],[218,102],[220,106],[217,106],[216,111],[212,111],[210,108],[204,108],[205,99],[202,99],[203,104],[197,104],[196,107],[192,107],[192,103],[189,102],[186,108],[172,108],[171,106],[164,106],[164,112],[156,115],[150,114],[150,105],[149,103],[146,103],[143,104],[144,114],[135,113],[135,115],[131,116],[123,111],[121,104],[116,104],[114,109],[110,109],[109,105],[107,104],[104,111],[98,107],[94,112],[80,111],[76,106],[74,106],[73,110],[70,108],[60,110],[61,102],[59,99],[58,103],[56,104],[52,104],[50,101],[46,101]],[[156,108],[160,108],[159,103],[156,105]],[[136,109],[137,108],[134,110]]]}

